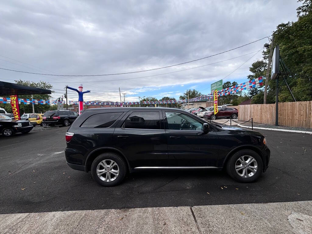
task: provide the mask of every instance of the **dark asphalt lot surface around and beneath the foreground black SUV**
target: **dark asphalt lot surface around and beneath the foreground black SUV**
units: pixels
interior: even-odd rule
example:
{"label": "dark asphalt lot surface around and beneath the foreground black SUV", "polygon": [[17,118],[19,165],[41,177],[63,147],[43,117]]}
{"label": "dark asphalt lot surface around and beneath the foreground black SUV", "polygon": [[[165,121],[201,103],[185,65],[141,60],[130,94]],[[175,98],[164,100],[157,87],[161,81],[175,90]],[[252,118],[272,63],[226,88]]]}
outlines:
{"label": "dark asphalt lot surface around and beneath the foreground black SUV", "polygon": [[66,130],[0,136],[1,214],[312,200],[310,134],[261,130],[271,161],[255,183],[238,183],[223,171],[155,171],[105,188],[66,165]]}

